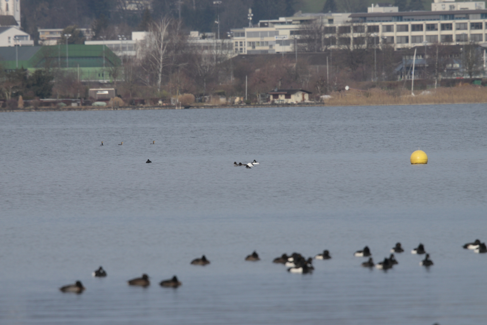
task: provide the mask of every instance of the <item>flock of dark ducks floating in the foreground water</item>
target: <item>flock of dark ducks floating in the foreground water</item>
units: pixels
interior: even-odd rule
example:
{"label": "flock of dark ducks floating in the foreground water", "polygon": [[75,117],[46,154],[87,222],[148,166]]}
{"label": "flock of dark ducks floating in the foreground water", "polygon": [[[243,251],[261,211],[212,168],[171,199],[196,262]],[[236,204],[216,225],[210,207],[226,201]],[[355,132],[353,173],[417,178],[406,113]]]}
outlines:
{"label": "flock of dark ducks floating in the foreground water", "polygon": [[[467,243],[463,245],[464,249],[471,249],[475,253],[487,253],[487,248],[486,244],[482,243],[479,239],[476,239],[472,243]],[[369,257],[369,260],[367,262],[363,262],[361,265],[364,268],[378,268],[382,270],[387,270],[389,268],[392,268],[394,265],[399,264],[399,262],[396,261],[394,257],[394,253],[400,254],[404,252],[404,249],[401,246],[401,243],[396,243],[395,246],[391,249],[391,255],[389,257],[385,257],[383,261],[375,264],[374,260],[372,259],[372,252],[370,251],[368,246],[365,246],[361,250],[357,250],[354,253],[354,256],[356,257]],[[428,254],[425,250],[425,247],[423,244],[419,244],[418,247],[415,249],[412,249],[411,254],[417,254],[417,255],[423,255],[425,254],[424,260],[419,262],[420,266],[423,267],[431,267],[433,265],[433,261],[430,260],[430,254]],[[325,249],[323,250],[322,253],[319,253],[315,255],[314,259],[315,260],[329,260],[332,257],[330,256],[330,252]],[[252,254],[247,255],[245,257],[245,261],[252,261],[252,262],[257,262],[260,261],[259,254],[257,254],[257,251],[253,251]],[[286,268],[287,271],[290,273],[311,273],[315,269],[313,267],[313,258],[308,257],[307,259],[301,255],[300,253],[292,253],[290,255],[287,255],[286,253],[282,254],[280,257],[276,257],[273,261],[273,263],[277,264],[283,264]],[[210,264],[210,261],[206,259],[206,256],[203,255],[201,258],[195,258],[194,260],[191,261],[191,265],[200,265],[200,266],[205,266]],[[106,277],[107,272],[100,266],[97,270],[93,272],[94,277]],[[149,276],[147,274],[142,274],[142,277],[140,278],[135,278],[127,281],[129,286],[138,286],[138,287],[148,287],[150,286],[150,280]],[[161,287],[172,287],[172,288],[177,288],[181,286],[181,282],[178,280],[177,276],[173,276],[171,279],[168,280],[163,280],[159,283]],[[64,287],[60,287],[59,290],[62,292],[72,292],[72,293],[82,293],[85,290],[85,287],[83,287],[83,284],[81,281],[76,281],[75,284],[72,285],[67,285]]]}

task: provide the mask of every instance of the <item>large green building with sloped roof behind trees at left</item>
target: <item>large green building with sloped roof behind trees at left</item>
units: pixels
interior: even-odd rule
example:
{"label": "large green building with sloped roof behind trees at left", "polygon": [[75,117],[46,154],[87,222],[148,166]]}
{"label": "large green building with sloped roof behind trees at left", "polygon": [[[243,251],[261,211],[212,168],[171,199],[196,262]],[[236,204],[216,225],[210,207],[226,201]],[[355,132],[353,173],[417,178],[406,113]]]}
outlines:
{"label": "large green building with sloped roof behind trees at left", "polygon": [[79,71],[81,81],[109,81],[110,70],[121,63],[120,58],[105,45],[0,47],[0,64],[5,70],[60,68]]}

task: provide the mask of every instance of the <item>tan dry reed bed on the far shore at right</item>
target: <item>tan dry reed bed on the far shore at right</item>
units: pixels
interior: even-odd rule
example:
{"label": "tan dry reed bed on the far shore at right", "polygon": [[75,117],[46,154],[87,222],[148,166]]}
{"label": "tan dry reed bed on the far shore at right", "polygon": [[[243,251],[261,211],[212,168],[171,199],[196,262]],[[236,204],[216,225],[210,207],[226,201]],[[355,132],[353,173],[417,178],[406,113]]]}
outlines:
{"label": "tan dry reed bed on the far shore at right", "polygon": [[460,86],[429,90],[382,90],[341,91],[330,94],[325,106],[354,105],[415,105],[415,104],[459,104],[487,103],[487,88],[479,86]]}

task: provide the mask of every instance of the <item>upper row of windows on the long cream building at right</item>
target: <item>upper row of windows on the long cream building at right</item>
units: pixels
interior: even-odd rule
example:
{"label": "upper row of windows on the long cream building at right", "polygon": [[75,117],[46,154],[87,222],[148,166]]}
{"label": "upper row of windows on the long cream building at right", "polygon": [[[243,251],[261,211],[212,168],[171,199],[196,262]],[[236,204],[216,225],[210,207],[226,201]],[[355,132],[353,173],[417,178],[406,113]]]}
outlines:
{"label": "upper row of windows on the long cream building at right", "polygon": [[[439,26],[438,26],[439,25]],[[352,30],[354,33],[365,33],[365,26],[358,25],[358,26],[338,26],[338,34],[350,34]],[[422,32],[426,28],[427,31],[437,31],[438,27],[442,31],[451,31],[453,30],[453,23],[434,23],[434,24],[412,24],[411,31],[412,32]],[[470,30],[480,30],[484,28],[483,22],[471,22],[470,23]],[[487,28],[487,26],[486,26]],[[456,22],[455,23],[455,30],[468,30],[468,23],[467,22]],[[323,32],[325,34],[336,34],[337,27],[324,27]],[[378,33],[379,26],[367,26],[368,33]],[[382,25],[382,32],[383,33],[391,33],[394,32],[394,25]],[[409,25],[396,25],[396,32],[409,32]],[[247,33],[248,34],[248,33]]]}

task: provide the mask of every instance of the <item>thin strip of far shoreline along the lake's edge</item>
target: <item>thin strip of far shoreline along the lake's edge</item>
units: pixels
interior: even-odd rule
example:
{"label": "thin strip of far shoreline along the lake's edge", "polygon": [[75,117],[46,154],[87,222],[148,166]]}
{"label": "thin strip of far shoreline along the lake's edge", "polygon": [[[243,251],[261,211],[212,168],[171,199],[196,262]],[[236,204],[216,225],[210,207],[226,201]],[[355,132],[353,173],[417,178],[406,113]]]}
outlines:
{"label": "thin strip of far shoreline along the lake's edge", "polygon": [[0,113],[21,113],[21,112],[80,112],[80,111],[149,111],[149,110],[179,110],[179,109],[208,109],[208,108],[266,108],[266,107],[356,107],[356,106],[417,106],[417,105],[465,105],[465,104],[487,104],[487,102],[463,102],[463,103],[408,103],[408,104],[336,104],[327,105],[326,103],[305,103],[305,104],[261,104],[261,105],[201,105],[190,106],[188,108],[177,108],[176,106],[126,106],[119,108],[96,107],[96,106],[77,106],[77,107],[46,107],[37,109],[16,109],[1,110]]}

